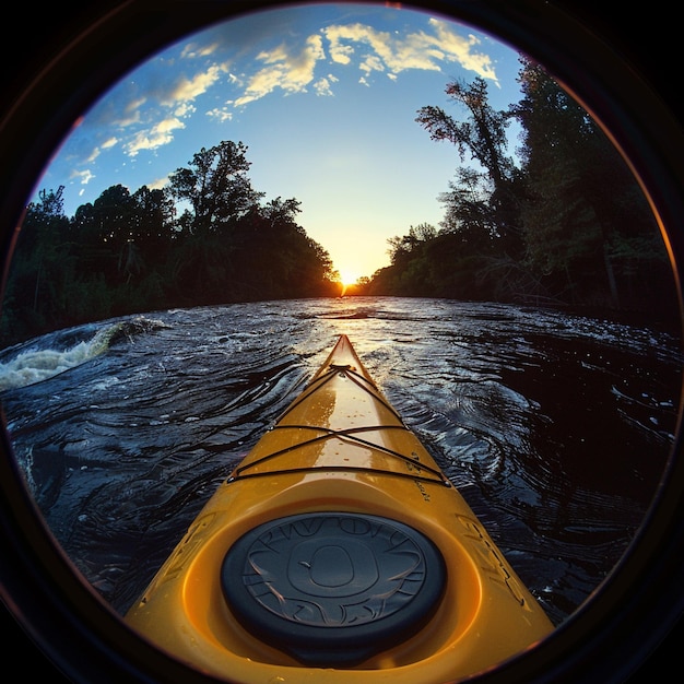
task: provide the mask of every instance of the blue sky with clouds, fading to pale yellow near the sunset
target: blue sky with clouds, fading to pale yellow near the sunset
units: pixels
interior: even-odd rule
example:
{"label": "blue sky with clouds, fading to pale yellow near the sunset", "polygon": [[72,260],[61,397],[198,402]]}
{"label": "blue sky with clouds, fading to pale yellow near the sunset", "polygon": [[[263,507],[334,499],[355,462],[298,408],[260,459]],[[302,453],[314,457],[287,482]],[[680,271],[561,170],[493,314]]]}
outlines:
{"label": "blue sky with clouds, fading to pale yellow near the sunset", "polygon": [[36,192],[64,186],[71,216],[110,186],[162,188],[202,148],[243,142],[262,201],[298,200],[297,223],[342,279],[372,276],[389,266],[389,238],[439,227],[439,196],[461,164],[415,121],[418,109],[463,118],[445,89],[477,76],[495,109],[520,99],[516,50],[388,4],[281,8],[188,35],[74,122]]}

